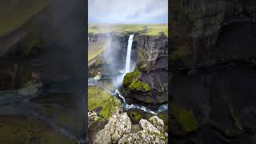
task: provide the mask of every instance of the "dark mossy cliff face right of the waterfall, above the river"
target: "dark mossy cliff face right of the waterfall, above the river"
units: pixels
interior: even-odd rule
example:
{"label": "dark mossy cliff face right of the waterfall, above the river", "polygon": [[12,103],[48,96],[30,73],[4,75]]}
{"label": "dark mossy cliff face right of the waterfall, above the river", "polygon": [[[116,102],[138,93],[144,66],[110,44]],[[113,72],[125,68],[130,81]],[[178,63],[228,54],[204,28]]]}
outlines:
{"label": "dark mossy cliff face right of the waterfall, above the river", "polygon": [[131,102],[159,104],[168,101],[168,39],[159,36],[136,35],[133,46],[138,58],[134,72],[126,74],[123,92]]}

